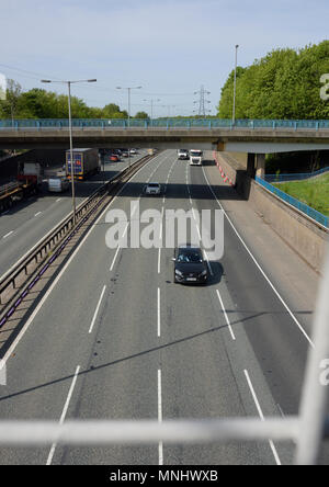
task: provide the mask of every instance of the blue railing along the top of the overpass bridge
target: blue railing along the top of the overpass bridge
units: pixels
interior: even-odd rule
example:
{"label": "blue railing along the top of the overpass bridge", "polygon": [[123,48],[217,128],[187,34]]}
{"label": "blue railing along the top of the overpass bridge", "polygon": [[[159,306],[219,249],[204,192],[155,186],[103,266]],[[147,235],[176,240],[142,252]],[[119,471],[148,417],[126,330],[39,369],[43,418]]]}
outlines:
{"label": "blue railing along the top of the overpass bridge", "polygon": [[[0,120],[0,131],[20,131],[35,128],[42,129],[64,129],[68,128],[69,121],[67,118],[22,118],[22,120]],[[139,120],[131,118],[73,118],[72,127],[75,129],[82,128],[248,128],[248,129],[328,129],[328,120],[237,120],[232,124],[231,120],[226,118],[157,118],[157,120]]]}

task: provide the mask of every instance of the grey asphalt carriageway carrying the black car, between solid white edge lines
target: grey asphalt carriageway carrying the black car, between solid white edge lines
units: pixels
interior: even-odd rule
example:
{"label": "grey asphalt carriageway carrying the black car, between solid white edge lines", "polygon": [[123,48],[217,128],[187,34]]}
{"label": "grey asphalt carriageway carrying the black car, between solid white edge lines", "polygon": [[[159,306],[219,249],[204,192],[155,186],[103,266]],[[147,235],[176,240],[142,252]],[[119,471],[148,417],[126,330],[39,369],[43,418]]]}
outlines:
{"label": "grey asphalt carriageway carrying the black car, between solid white edge lines", "polygon": [[[141,195],[149,180],[167,186],[163,197]],[[167,150],[135,174],[111,208],[128,213],[131,201],[140,199],[140,212],[218,209],[220,191],[208,185],[206,168],[191,168]],[[0,418],[162,421],[297,414],[308,337],[228,219],[225,254],[209,263],[209,283],[198,287],[173,284],[172,249],[109,249],[105,215],[7,352]],[[0,450],[1,464],[292,461],[293,445],[273,442]]]}

